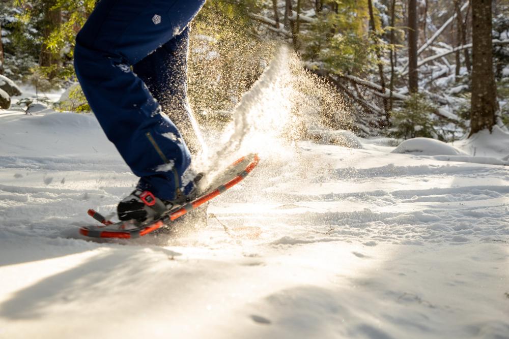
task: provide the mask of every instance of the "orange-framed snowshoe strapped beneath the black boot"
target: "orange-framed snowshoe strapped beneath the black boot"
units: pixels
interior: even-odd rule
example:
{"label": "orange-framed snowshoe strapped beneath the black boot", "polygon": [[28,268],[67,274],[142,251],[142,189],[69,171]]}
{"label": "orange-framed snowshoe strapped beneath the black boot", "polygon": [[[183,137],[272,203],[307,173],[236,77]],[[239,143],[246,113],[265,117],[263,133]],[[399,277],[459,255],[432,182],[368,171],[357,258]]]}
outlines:
{"label": "orange-framed snowshoe strapped beneath the black boot", "polygon": [[238,159],[213,180],[214,183],[210,185],[209,189],[205,190],[203,195],[182,207],[168,211],[168,213],[164,214],[161,218],[150,222],[139,223],[135,220],[129,220],[112,223],[106,220],[101,214],[91,209],[89,210],[89,215],[100,222],[101,225],[81,227],[79,233],[93,238],[133,239],[144,236],[168,225],[172,221],[182,217],[182,215],[200,207],[221,193],[234,187],[258,165],[259,161],[260,158],[256,154],[250,154]]}

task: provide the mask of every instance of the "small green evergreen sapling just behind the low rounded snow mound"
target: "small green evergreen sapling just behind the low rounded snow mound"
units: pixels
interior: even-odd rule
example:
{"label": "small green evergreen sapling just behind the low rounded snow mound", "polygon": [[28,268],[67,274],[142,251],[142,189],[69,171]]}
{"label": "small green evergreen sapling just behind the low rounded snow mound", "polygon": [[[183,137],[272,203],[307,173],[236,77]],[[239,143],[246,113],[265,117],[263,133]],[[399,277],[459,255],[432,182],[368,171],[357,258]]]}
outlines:
{"label": "small green evergreen sapling just behind the low rounded snow mound", "polygon": [[392,134],[397,138],[410,139],[416,137],[433,138],[437,134],[433,129],[431,114],[436,107],[428,98],[415,94],[395,108],[392,112]]}

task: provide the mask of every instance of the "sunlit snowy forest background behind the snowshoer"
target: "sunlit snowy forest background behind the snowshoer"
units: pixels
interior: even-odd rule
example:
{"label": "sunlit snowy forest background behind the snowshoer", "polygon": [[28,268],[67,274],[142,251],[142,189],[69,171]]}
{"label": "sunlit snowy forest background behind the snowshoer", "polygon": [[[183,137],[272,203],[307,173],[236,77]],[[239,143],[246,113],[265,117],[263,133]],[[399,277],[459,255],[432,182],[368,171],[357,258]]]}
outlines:
{"label": "sunlit snowy forest background behind the snowshoer", "polygon": [[[37,93],[13,104],[90,110],[73,47],[95,3],[0,0],[0,108],[18,95],[11,79]],[[231,110],[281,43],[299,71],[341,97],[337,112],[351,113],[345,121],[323,91],[309,91],[329,106],[319,116],[328,128],[454,141],[509,124],[509,0],[209,0],[192,23],[189,94],[199,119],[224,117],[211,113]],[[59,88],[66,100],[45,99]]]}

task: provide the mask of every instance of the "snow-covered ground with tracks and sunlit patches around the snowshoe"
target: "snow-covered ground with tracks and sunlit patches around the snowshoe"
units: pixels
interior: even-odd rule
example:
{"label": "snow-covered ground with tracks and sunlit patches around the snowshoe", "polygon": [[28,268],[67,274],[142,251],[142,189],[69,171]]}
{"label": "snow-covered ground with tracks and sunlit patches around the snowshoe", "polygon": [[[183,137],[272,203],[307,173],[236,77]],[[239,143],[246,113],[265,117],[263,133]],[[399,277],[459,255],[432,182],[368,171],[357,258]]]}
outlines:
{"label": "snow-covered ground with tracks and sunlit patches around the snowshoe", "polygon": [[509,169],[473,161],[509,134],[440,158],[247,133],[284,72],[238,108],[225,138],[262,162],[208,226],[132,241],[77,233],[136,180],[93,115],[0,111],[0,338],[509,338]]}

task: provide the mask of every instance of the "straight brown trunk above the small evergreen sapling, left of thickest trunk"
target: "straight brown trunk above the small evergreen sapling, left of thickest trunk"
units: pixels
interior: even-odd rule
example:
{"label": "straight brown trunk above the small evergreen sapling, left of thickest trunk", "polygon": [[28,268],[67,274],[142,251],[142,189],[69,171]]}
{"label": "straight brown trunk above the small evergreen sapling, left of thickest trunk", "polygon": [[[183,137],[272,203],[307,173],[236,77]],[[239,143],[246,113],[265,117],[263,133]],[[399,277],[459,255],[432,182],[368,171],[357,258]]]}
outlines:
{"label": "straight brown trunk above the small evergreen sapling, left of thickest trunk", "polygon": [[419,90],[419,73],[417,70],[417,4],[408,0],[408,90],[417,93]]}

